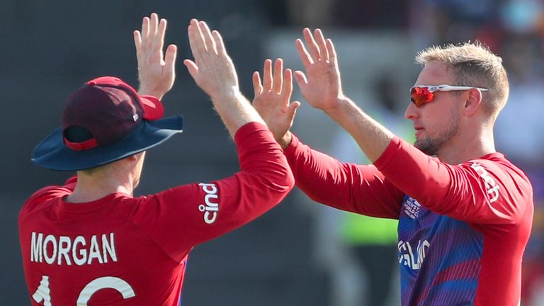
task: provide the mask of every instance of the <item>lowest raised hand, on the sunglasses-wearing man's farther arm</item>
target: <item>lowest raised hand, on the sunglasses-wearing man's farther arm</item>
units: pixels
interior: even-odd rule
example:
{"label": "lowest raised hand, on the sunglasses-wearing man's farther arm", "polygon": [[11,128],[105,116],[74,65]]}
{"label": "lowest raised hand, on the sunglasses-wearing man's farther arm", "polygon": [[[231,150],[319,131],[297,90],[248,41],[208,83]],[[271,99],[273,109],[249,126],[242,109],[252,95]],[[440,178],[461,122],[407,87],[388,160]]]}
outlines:
{"label": "lowest raised hand, on the sunglasses-wearing man's farther arm", "polygon": [[[282,140],[293,125],[295,112],[300,102],[289,103],[293,92],[293,75],[290,69],[283,72],[283,61],[276,60],[272,72],[272,61],[264,61],[263,81],[259,72],[253,73],[253,89],[255,97],[253,106],[263,118],[268,129],[283,147]],[[286,141],[290,142],[290,141]]]}

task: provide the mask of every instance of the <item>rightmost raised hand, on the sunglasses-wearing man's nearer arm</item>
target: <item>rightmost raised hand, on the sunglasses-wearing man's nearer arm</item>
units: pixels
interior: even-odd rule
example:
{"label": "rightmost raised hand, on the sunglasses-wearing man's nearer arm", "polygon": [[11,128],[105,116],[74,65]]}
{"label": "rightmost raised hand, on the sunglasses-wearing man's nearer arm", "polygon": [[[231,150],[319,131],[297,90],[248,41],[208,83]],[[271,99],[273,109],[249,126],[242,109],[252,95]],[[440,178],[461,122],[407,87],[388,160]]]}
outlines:
{"label": "rightmost raised hand, on the sunglasses-wearing man's nearer arm", "polygon": [[336,50],[330,39],[325,40],[321,30],[314,30],[314,35],[309,28],[302,31],[308,52],[302,43],[297,39],[297,47],[300,60],[306,69],[304,72],[295,71],[295,81],[300,87],[302,96],[314,108],[327,111],[337,105],[339,98],[344,94],[341,89],[340,71],[336,60]]}

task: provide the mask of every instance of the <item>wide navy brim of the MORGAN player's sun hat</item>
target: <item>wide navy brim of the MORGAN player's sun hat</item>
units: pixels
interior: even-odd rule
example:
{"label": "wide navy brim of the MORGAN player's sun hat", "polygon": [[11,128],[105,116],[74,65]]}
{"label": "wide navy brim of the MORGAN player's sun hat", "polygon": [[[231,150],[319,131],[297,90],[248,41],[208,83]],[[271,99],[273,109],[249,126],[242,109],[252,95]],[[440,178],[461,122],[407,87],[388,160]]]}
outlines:
{"label": "wide navy brim of the MORGAN player's sun hat", "polygon": [[142,123],[121,140],[83,151],[64,145],[62,128],[45,137],[33,150],[32,162],[47,169],[77,171],[115,162],[162,144],[183,130],[183,118],[174,116]]}

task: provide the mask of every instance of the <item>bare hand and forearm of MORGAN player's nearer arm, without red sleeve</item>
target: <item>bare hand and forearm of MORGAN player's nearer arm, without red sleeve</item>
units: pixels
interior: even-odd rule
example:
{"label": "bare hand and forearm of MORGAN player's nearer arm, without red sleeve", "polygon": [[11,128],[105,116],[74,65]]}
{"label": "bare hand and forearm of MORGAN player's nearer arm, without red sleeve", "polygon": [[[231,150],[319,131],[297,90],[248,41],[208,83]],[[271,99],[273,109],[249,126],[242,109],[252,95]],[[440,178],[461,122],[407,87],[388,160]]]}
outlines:
{"label": "bare hand and forearm of MORGAN player's nearer arm, without red sleeve", "polygon": [[234,137],[236,131],[249,122],[264,124],[239,90],[238,76],[220,33],[210,31],[204,21],[196,19],[191,20],[188,33],[194,61],[184,60],[183,64],[196,84],[212,98],[215,111],[230,135]]}

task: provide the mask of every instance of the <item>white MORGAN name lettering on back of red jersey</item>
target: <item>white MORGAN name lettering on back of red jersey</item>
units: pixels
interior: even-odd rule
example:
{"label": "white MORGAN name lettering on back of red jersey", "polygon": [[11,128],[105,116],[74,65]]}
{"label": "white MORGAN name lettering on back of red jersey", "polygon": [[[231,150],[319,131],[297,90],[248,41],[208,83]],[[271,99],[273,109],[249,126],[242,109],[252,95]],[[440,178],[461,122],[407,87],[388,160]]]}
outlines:
{"label": "white MORGAN name lettering on back of red jersey", "polygon": [[30,261],[40,263],[45,261],[48,264],[57,263],[59,266],[63,263],[72,266],[72,261],[77,266],[91,264],[93,259],[96,259],[98,263],[107,263],[109,259],[117,261],[113,232],[102,234],[101,239],[98,239],[98,235],[92,235],[91,244],[89,247],[86,247],[87,245],[83,236],[77,236],[72,242],[72,239],[68,236],[57,238],[52,234],[48,234],[43,239],[43,233],[32,232]]}

